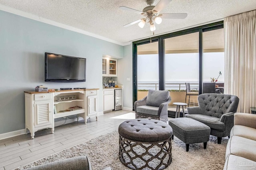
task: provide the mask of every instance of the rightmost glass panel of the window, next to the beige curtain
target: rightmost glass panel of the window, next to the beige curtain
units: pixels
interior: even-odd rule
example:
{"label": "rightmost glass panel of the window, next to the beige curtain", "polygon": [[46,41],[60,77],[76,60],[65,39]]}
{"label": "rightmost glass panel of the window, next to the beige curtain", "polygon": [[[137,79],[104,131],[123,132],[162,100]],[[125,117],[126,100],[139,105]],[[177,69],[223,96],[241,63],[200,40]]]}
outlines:
{"label": "rightmost glass panel of the window, next to the beige curtain", "polygon": [[224,29],[203,32],[203,93],[224,92]]}

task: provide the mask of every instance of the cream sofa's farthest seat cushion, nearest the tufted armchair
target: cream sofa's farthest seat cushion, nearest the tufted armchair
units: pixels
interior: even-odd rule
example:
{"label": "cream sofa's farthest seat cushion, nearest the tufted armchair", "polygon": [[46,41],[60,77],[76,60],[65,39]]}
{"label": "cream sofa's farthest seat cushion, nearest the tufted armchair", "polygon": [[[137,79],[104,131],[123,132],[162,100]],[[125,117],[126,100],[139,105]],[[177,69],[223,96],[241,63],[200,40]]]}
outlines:
{"label": "cream sofa's farthest seat cushion, nearest the tufted armchair", "polygon": [[256,135],[252,134],[256,134],[256,129],[242,125],[234,125],[230,131],[230,136],[235,135],[256,141]]}

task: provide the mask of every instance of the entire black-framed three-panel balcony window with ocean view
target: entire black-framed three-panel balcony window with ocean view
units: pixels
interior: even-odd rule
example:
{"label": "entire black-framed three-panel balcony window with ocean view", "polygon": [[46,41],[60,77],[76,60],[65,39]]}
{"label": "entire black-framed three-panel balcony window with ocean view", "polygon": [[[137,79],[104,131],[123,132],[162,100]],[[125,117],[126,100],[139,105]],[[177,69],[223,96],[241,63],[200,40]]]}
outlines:
{"label": "entire black-framed three-panel balcony window with ocean view", "polygon": [[184,91],[190,82],[201,94],[210,78],[224,82],[224,40],[216,39],[219,33],[223,37],[223,21],[133,42],[133,102],[138,90]]}

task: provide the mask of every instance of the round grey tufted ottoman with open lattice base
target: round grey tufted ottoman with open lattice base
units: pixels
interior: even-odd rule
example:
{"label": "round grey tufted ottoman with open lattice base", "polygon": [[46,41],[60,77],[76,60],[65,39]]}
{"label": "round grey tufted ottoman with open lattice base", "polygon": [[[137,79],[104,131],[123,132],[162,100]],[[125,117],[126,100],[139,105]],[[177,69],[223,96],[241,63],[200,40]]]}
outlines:
{"label": "round grey tufted ottoman with open lattice base", "polygon": [[172,127],[156,119],[131,119],[118,127],[119,159],[131,169],[159,170],[172,162]]}

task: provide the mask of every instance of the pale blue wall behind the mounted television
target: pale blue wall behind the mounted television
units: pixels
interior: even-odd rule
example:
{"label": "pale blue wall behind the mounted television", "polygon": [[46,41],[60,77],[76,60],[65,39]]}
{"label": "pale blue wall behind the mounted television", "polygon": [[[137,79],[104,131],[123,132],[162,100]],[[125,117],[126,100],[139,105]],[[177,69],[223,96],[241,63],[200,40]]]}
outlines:
{"label": "pale blue wall behind the mounted television", "polygon": [[[45,52],[86,58],[86,82],[44,82]],[[100,88],[103,111],[102,55],[123,53],[123,46],[0,11],[0,134],[25,128],[24,91],[41,84]]]}

